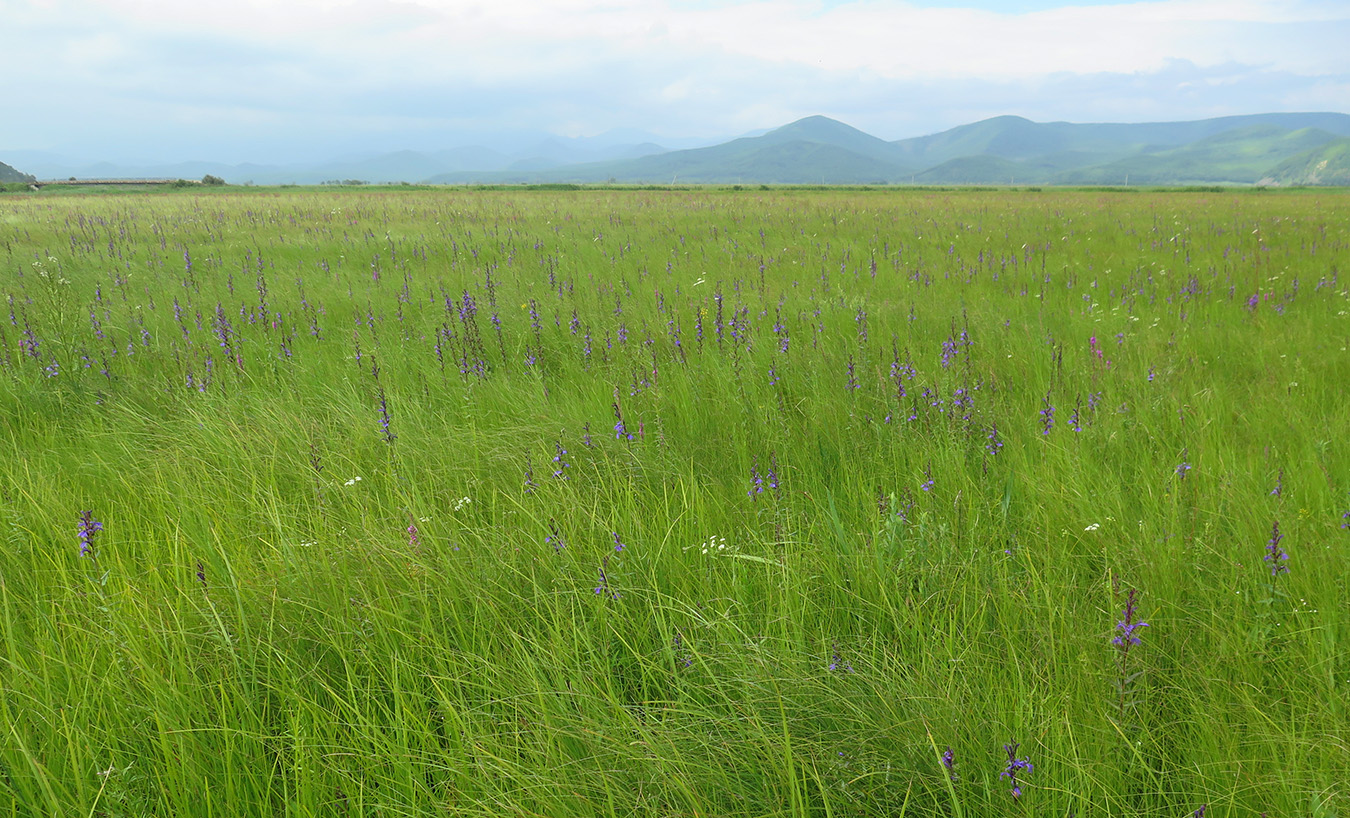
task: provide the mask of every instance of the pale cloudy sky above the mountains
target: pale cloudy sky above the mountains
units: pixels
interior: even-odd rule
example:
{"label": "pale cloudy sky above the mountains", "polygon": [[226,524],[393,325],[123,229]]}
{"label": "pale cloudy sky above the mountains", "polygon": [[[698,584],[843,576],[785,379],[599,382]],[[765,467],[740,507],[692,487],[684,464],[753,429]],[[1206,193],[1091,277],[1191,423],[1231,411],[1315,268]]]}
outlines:
{"label": "pale cloudy sky above the mountains", "polygon": [[0,161],[1350,112],[1350,1],[0,0]]}

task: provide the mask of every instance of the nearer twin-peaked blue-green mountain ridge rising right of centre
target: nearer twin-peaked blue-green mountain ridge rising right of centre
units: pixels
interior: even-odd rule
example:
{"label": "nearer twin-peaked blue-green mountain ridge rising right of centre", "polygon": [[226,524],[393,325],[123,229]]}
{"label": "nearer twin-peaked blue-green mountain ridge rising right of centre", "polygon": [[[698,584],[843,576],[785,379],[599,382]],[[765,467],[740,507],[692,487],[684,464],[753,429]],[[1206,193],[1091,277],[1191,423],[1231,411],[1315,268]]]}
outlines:
{"label": "nearer twin-peaked blue-green mountain ridge rising right of centre", "polygon": [[[998,116],[886,142],[824,116],[760,136],[625,161],[432,182],[733,182],[926,185],[1253,185],[1291,157],[1350,136],[1345,113],[1260,113],[1142,124]],[[1322,178],[1331,178],[1324,174]]]}

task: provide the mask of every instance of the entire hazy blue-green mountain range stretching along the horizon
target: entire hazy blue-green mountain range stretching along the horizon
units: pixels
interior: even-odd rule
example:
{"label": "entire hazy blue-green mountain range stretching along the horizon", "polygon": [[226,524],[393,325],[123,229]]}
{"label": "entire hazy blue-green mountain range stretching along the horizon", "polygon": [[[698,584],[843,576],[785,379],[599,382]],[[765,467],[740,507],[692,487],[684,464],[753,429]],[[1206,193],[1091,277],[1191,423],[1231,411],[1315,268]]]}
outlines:
{"label": "entire hazy blue-green mountain range stretching along the horizon", "polygon": [[[14,161],[14,157],[7,157]],[[1350,115],[1257,113],[1170,123],[1037,123],[998,116],[887,142],[825,116],[670,150],[640,132],[352,155],[312,165],[57,166],[39,175],[197,178],[230,184],[922,184],[1347,185]],[[53,173],[55,171],[55,173]]]}

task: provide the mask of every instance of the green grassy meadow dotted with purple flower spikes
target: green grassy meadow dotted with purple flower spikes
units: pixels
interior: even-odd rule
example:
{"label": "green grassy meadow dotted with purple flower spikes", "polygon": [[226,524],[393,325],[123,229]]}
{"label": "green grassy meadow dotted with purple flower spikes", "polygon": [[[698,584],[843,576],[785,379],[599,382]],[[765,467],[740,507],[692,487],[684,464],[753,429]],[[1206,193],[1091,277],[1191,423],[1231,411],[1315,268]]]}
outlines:
{"label": "green grassy meadow dotted with purple flower spikes", "polygon": [[1347,815],[1347,258],[1338,190],[3,196],[0,815]]}

